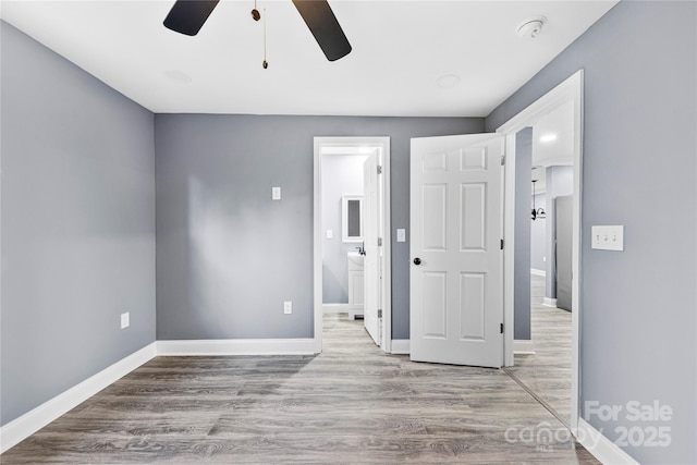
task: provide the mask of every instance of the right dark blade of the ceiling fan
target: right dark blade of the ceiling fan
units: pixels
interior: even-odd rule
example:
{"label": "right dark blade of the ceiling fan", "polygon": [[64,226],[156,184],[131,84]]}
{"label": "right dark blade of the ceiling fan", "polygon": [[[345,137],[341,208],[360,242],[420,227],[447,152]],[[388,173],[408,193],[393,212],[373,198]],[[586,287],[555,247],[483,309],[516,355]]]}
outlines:
{"label": "right dark blade of the ceiling fan", "polygon": [[327,60],[335,61],[351,52],[351,44],[327,0],[293,0],[293,4],[305,20]]}

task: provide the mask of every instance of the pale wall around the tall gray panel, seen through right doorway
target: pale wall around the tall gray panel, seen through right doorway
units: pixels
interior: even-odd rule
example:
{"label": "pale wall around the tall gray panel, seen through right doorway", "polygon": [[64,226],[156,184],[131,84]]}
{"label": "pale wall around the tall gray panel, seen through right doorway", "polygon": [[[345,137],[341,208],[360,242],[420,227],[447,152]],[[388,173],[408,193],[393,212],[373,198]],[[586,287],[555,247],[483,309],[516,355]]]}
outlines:
{"label": "pale wall around the tall gray panel, seen through right doorway", "polygon": [[545,296],[557,298],[557,211],[554,210],[554,199],[574,194],[574,167],[547,167],[545,170],[547,192],[547,219],[543,220],[547,241],[545,243],[545,255],[548,260],[545,262]]}

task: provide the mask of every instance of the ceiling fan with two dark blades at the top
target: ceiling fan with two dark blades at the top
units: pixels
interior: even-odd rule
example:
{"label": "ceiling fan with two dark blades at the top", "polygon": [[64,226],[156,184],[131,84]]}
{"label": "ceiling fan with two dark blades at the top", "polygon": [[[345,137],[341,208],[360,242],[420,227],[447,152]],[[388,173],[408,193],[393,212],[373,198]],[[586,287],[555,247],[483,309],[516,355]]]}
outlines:
{"label": "ceiling fan with two dark blades at the top", "polygon": [[[164,19],[164,26],[187,36],[195,36],[219,1],[176,0]],[[329,61],[339,60],[351,52],[351,44],[327,0],[293,0],[293,4]]]}

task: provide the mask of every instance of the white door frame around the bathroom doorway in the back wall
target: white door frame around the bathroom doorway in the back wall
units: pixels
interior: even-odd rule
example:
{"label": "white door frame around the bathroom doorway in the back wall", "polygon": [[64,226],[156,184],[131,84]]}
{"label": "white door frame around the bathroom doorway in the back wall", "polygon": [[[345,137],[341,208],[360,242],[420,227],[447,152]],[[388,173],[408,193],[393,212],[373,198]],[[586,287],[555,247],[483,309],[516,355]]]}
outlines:
{"label": "white door frame around the bathroom doorway in the back wall", "polygon": [[[382,151],[382,343],[392,351],[392,241],[390,229],[390,137],[315,137],[314,186],[314,352],[322,351],[322,149],[325,147],[366,147]],[[368,155],[367,152],[365,155]]]}

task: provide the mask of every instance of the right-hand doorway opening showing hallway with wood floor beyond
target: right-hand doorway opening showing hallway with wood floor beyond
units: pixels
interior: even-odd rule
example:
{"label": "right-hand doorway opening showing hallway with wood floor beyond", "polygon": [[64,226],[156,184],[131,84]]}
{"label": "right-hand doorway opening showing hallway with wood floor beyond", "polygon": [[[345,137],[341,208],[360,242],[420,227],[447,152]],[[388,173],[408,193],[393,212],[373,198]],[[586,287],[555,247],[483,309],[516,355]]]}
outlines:
{"label": "right-hand doorway opening showing hallway with wood floor beyond", "polygon": [[571,428],[573,102],[516,134],[514,366]]}

